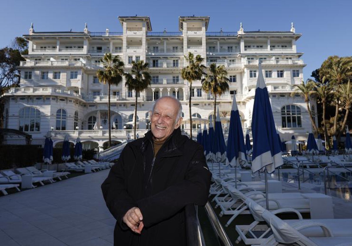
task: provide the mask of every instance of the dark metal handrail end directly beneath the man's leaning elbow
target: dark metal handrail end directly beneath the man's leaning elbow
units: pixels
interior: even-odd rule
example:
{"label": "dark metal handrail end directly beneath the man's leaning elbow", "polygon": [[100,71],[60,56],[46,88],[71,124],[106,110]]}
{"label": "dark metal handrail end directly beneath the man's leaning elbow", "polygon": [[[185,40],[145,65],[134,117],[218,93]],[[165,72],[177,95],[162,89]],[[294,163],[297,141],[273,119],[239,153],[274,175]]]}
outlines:
{"label": "dark metal handrail end directly beneath the man's leaning elbow", "polygon": [[187,245],[189,246],[205,246],[197,212],[197,206],[193,204],[185,207]]}

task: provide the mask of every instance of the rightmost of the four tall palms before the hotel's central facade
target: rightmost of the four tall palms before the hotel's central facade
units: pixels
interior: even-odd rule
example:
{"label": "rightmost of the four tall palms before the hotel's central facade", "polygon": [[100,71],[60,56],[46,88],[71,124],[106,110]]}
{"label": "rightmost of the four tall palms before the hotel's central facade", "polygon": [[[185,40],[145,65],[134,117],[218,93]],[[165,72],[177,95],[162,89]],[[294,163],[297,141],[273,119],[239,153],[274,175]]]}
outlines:
{"label": "rightmost of the four tall palms before the hotel's central facade", "polygon": [[[216,95],[221,95],[225,91],[228,91],[228,82],[230,81],[227,76],[225,66],[216,66],[215,63],[209,66],[210,74],[207,74],[202,79],[202,89],[207,93],[214,95],[214,126],[215,126],[215,115],[216,115]],[[235,96],[235,95],[233,95]]]}

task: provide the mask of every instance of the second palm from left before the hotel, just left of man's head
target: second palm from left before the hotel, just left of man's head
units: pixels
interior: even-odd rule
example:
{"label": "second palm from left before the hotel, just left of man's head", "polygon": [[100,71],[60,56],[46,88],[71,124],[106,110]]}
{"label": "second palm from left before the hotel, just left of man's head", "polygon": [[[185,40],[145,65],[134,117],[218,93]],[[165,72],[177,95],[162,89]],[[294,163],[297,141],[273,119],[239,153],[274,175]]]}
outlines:
{"label": "second palm from left before the hotel, just left of man's head", "polygon": [[137,126],[137,99],[141,91],[148,88],[152,77],[148,71],[148,63],[144,63],[143,60],[138,62],[132,62],[131,73],[125,73],[126,86],[128,90],[134,90],[136,92],[136,102],[134,103],[134,139],[136,139],[136,126]]}

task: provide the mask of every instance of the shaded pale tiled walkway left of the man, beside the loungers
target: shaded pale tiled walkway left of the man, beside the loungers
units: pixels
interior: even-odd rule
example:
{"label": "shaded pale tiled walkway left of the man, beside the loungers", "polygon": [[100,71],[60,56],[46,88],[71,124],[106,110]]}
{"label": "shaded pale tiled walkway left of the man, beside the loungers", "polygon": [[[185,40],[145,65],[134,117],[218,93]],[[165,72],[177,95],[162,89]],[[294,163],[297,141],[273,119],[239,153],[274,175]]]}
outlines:
{"label": "shaded pale tiled walkway left of the man, beside the loungers", "polygon": [[0,245],[113,245],[100,184],[109,169],[0,197]]}

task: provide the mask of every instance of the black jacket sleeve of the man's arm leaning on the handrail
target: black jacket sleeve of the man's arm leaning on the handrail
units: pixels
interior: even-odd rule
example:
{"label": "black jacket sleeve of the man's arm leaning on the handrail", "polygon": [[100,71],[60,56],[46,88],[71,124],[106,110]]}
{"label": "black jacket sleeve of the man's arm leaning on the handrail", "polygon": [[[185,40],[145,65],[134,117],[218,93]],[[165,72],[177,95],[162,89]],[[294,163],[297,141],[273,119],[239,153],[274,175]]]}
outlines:
{"label": "black jacket sleeve of the man's arm leaning on the handrail", "polygon": [[137,201],[148,227],[176,214],[187,204],[205,205],[212,174],[208,170],[203,149],[197,147],[186,171],[185,179],[148,198]]}

